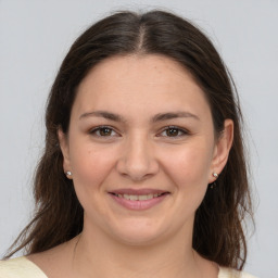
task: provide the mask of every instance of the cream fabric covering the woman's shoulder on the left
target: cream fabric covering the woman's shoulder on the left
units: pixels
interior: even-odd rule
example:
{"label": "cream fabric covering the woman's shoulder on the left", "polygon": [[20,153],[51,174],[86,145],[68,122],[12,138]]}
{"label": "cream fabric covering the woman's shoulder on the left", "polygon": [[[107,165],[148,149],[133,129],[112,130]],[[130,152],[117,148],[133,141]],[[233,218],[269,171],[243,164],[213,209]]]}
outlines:
{"label": "cream fabric covering the woman's shoulder on the left", "polygon": [[47,276],[25,256],[0,261],[0,278],[47,278]]}

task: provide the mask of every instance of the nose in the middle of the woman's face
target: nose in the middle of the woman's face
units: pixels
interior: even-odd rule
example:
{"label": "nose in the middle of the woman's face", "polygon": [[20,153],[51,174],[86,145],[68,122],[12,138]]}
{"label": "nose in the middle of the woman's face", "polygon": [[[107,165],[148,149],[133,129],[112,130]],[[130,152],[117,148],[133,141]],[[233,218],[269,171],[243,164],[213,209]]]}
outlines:
{"label": "nose in the middle of the woman's face", "polygon": [[144,180],[159,173],[159,162],[154,155],[154,147],[148,138],[140,135],[126,139],[123,153],[117,162],[121,175],[134,181]]}

